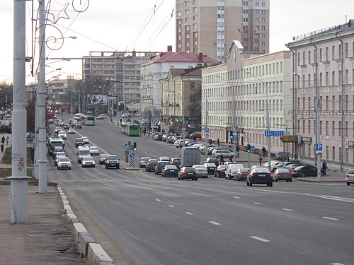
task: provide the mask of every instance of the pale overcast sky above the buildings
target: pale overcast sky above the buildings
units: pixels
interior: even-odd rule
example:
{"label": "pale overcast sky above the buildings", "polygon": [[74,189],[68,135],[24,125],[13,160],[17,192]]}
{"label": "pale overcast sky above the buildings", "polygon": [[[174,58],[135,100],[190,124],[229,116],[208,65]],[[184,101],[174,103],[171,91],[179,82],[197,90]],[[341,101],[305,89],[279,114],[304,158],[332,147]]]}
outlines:
{"label": "pale overcast sky above the buildings", "polygon": [[[49,0],[45,0],[50,3]],[[200,0],[202,1],[202,0]],[[261,0],[260,0],[261,1]],[[35,6],[38,0],[33,0]],[[76,9],[89,7],[84,12]],[[31,1],[26,1],[26,56],[32,56]],[[66,12],[61,12],[68,4]],[[46,37],[60,38],[60,49],[47,48],[49,58],[80,58],[89,51],[166,51],[167,45],[175,51],[175,17],[171,18],[174,0],[52,0],[50,20],[57,20],[55,27],[47,28]],[[156,7],[154,7],[156,5]],[[35,14],[36,11],[33,13]],[[35,15],[34,15],[35,16]],[[347,16],[347,17],[346,17]],[[270,0],[270,52],[286,49],[285,43],[292,37],[346,23],[354,19],[353,0]],[[13,78],[13,1],[1,0],[0,4],[0,82],[12,82]],[[52,34],[51,34],[52,33]],[[68,37],[74,36],[76,39]],[[37,35],[38,37],[38,35]],[[60,40],[60,39],[59,39]],[[58,47],[58,46],[57,46]],[[55,47],[55,48],[57,48]],[[35,53],[38,58],[38,52]],[[57,61],[57,62],[55,62]],[[74,75],[81,78],[81,60],[47,60],[46,79],[61,74],[60,78]],[[62,69],[55,71],[55,69]],[[53,71],[52,73],[50,73]],[[27,82],[30,65],[26,67]]]}

